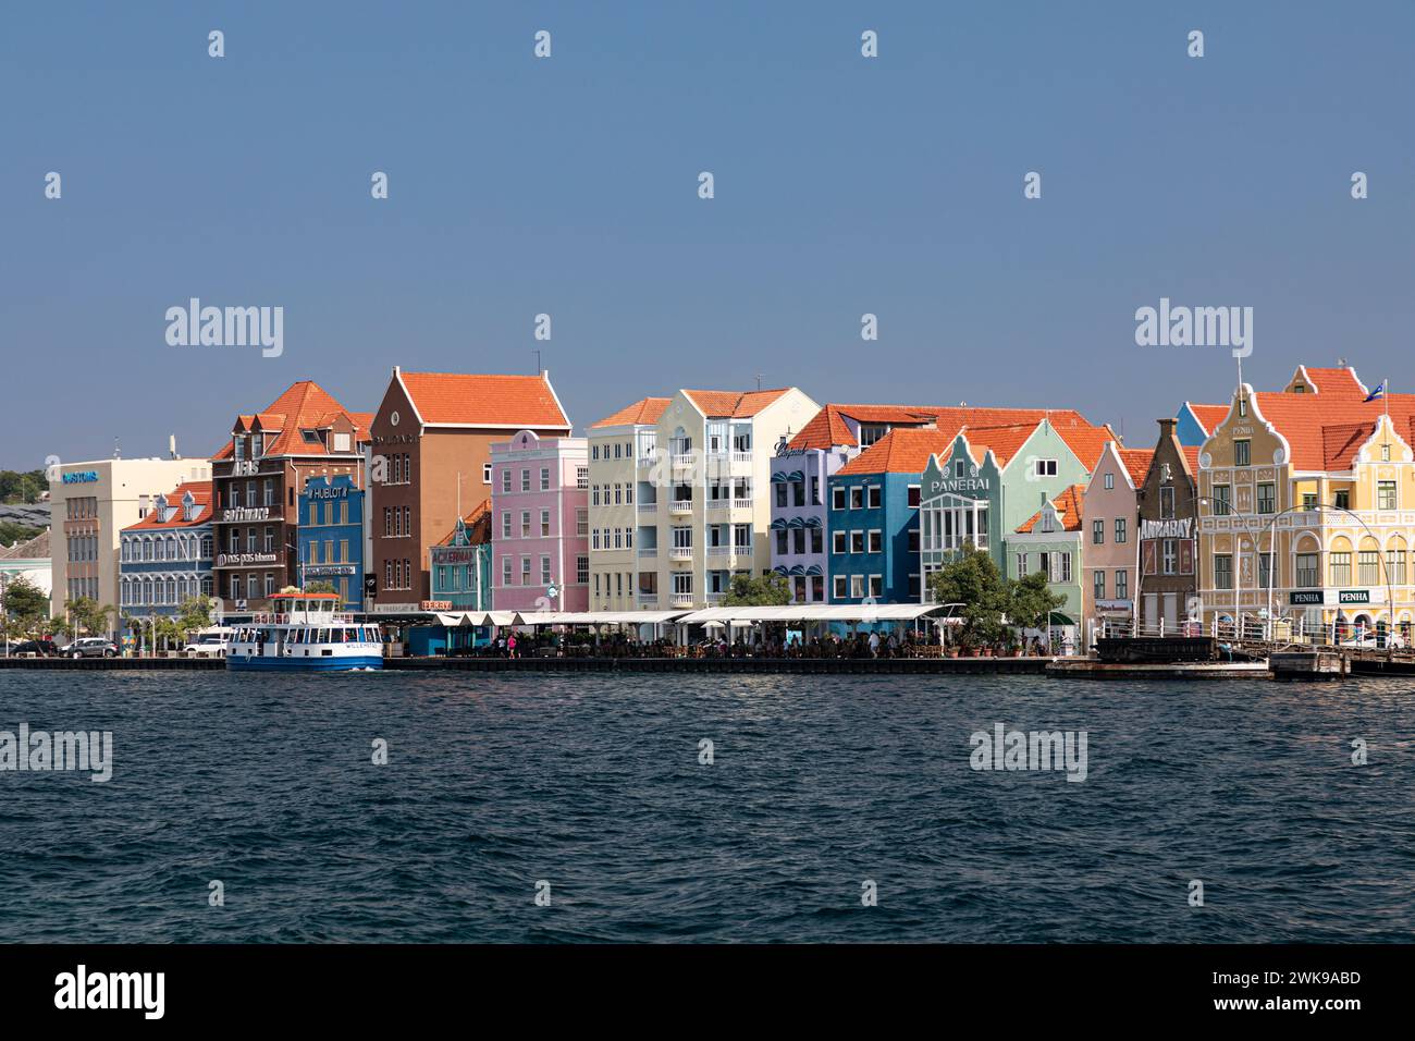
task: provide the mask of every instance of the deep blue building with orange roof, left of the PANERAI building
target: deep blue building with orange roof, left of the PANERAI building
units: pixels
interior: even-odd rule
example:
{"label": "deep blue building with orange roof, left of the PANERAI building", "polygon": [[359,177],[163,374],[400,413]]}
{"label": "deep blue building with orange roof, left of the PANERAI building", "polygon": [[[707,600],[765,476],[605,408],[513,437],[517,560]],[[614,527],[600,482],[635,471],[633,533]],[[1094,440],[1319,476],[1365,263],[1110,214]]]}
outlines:
{"label": "deep blue building with orange roof, left of the PANERAI building", "polygon": [[920,474],[952,431],[890,431],[831,474],[831,603],[918,603]]}

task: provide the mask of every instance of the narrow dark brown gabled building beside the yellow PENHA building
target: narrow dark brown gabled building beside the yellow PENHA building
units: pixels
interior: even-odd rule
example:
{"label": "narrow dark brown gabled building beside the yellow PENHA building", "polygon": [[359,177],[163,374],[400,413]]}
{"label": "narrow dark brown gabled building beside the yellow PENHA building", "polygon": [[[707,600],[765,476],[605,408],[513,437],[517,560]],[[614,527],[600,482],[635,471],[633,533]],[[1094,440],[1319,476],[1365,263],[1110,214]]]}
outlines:
{"label": "narrow dark brown gabled building beside the yellow PENHA building", "polygon": [[1146,636],[1180,632],[1199,595],[1199,448],[1180,445],[1176,426],[1176,419],[1159,421],[1155,455],[1136,494],[1136,632]]}

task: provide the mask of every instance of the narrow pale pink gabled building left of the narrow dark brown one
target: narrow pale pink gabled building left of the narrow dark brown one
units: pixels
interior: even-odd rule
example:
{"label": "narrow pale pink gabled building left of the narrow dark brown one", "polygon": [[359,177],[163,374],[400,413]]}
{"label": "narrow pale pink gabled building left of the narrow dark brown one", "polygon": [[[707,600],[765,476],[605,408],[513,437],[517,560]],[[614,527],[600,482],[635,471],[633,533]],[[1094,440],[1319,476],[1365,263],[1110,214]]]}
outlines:
{"label": "narrow pale pink gabled building left of the narrow dark brown one", "polygon": [[1085,487],[1081,612],[1088,647],[1108,627],[1129,635],[1139,572],[1139,487],[1153,455],[1107,442]]}

